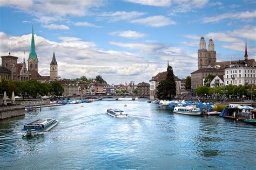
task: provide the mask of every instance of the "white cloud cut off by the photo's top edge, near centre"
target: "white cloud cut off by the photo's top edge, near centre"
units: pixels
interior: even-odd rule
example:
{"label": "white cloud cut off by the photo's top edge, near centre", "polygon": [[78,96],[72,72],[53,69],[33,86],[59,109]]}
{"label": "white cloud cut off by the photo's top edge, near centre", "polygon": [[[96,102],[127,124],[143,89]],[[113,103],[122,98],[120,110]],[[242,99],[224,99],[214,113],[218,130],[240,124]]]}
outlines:
{"label": "white cloud cut off by the photo's top edge, near centre", "polygon": [[170,6],[171,0],[125,0],[127,2],[150,6]]}

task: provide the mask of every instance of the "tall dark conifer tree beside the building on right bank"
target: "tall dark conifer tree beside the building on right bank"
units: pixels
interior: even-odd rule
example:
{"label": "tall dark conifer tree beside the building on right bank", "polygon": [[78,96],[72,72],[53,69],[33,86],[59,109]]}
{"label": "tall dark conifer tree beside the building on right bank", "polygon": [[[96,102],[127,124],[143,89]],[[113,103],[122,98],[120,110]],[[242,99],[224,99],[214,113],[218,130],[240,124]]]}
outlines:
{"label": "tall dark conifer tree beside the building on right bank", "polygon": [[157,86],[157,96],[163,100],[171,100],[176,95],[176,83],[171,66],[167,67],[166,79]]}

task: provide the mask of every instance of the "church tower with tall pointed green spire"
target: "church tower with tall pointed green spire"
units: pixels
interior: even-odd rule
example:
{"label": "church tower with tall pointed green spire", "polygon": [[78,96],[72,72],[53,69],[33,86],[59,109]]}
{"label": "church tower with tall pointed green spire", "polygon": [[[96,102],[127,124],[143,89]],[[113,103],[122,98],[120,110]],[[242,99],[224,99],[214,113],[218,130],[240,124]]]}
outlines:
{"label": "church tower with tall pointed green spire", "polygon": [[30,48],[29,59],[28,59],[28,70],[29,71],[36,70],[38,72],[38,59],[36,54],[33,26],[32,26],[31,48]]}

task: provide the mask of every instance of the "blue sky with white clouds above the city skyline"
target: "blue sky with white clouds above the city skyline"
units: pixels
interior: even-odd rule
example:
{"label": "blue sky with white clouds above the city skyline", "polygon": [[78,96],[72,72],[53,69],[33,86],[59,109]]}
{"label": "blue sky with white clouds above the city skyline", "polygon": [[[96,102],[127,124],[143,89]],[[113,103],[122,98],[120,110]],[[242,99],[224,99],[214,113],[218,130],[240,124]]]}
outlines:
{"label": "blue sky with white clouds above the city skyline", "polygon": [[197,70],[200,37],[213,39],[217,61],[256,56],[256,1],[0,0],[0,55],[28,60],[32,25],[38,72],[101,75],[107,83],[149,83],[167,60],[180,79]]}

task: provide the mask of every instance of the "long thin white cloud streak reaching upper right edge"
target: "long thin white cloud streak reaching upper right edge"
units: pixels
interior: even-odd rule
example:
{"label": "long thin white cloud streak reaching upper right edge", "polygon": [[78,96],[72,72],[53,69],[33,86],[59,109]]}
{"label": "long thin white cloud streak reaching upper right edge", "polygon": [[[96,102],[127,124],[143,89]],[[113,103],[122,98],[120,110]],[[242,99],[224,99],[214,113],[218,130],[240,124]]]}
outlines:
{"label": "long thin white cloud streak reaching upper right edge", "polygon": [[246,11],[246,12],[236,12],[236,13],[223,13],[218,16],[214,17],[204,17],[204,23],[217,23],[224,19],[248,19],[248,18],[255,18],[256,17],[256,10],[255,11]]}

